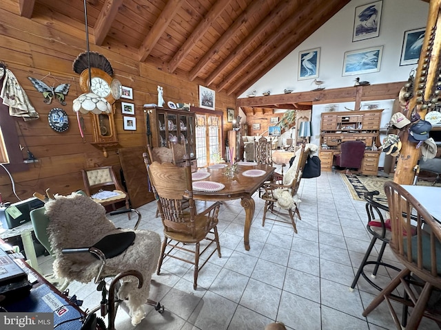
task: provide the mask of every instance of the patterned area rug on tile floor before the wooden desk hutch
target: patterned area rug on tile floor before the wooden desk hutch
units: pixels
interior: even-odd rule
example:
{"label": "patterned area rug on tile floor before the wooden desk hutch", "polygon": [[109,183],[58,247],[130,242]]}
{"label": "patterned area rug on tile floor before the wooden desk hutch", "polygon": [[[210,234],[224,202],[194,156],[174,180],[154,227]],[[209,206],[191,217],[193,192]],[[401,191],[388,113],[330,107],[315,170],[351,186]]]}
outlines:
{"label": "patterned area rug on tile floor before the wooden desk hutch", "polygon": [[[352,198],[357,201],[365,201],[365,192],[378,190],[380,195],[373,197],[374,201],[378,203],[387,203],[386,195],[384,194],[384,183],[387,181],[393,181],[393,177],[376,177],[373,175],[347,175],[345,173],[339,173],[342,175],[343,181],[351,192]],[[431,186],[431,181],[418,181],[418,186]]]}

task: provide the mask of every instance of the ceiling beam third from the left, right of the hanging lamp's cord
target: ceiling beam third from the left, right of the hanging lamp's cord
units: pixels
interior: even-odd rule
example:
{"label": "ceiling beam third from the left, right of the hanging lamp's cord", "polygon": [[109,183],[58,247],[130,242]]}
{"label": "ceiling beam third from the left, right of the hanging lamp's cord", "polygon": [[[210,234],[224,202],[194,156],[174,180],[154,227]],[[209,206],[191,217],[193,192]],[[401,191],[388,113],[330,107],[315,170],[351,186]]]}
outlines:
{"label": "ceiling beam third from the left, right of the hanging lamp's cord", "polygon": [[176,12],[178,12],[179,8],[181,8],[182,3],[185,0],[169,0],[167,5],[165,5],[164,10],[159,15],[158,19],[150,29],[149,34],[143,40],[141,46],[139,46],[139,61],[144,62],[145,59],[149,56],[150,52],[152,52],[154,46],[158,42],[161,35],[167,29],[168,25],[174,18]]}

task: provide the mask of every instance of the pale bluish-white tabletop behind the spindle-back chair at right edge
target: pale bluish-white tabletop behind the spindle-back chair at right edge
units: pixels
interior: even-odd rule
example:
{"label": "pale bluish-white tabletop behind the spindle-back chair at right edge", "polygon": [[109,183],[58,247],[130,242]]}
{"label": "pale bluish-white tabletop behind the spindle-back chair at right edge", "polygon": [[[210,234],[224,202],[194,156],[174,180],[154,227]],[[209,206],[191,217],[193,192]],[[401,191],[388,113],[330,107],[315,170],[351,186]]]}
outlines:
{"label": "pale bluish-white tabletop behind the spindle-back chair at right edge", "polygon": [[441,187],[401,185],[431,214],[441,221]]}

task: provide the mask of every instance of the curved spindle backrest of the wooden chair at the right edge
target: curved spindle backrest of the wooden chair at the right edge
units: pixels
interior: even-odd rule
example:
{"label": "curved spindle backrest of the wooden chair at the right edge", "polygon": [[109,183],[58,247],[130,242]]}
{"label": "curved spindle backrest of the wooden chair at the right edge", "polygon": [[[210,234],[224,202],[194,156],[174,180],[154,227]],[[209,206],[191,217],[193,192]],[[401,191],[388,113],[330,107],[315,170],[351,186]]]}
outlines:
{"label": "curved spindle backrest of the wooden chair at the right edge", "polygon": [[386,182],[384,192],[393,253],[413,274],[441,288],[441,224],[399,184]]}

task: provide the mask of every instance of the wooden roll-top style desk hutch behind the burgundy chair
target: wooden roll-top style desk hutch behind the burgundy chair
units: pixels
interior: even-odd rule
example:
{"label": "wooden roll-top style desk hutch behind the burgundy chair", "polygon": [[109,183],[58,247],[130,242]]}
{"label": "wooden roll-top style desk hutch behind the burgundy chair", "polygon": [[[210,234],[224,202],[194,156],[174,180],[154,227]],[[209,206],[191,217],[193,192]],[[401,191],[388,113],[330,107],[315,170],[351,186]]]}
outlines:
{"label": "wooden roll-top style desk hutch behind the burgundy chair", "polygon": [[331,171],[334,155],[340,153],[340,143],[361,140],[366,144],[360,171],[364,175],[378,174],[380,159],[380,122],[382,110],[322,113],[320,123],[321,170]]}

